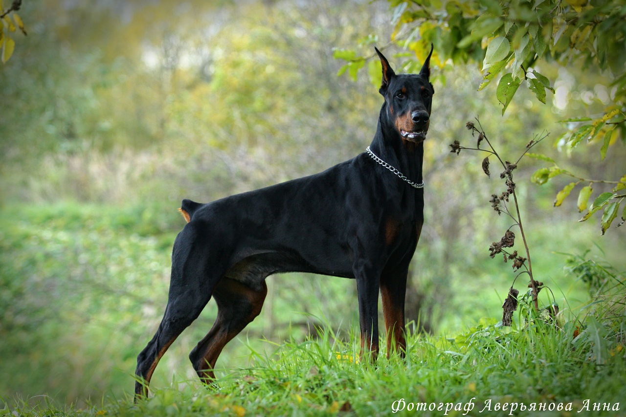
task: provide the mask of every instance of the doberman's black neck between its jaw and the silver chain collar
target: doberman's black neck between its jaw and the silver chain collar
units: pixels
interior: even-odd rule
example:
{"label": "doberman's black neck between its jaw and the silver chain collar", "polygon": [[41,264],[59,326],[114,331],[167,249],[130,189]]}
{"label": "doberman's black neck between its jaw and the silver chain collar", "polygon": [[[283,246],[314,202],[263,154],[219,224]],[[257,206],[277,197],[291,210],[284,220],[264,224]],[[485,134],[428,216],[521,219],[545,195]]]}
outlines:
{"label": "doberman's black neck between its jaw and the silver chain collar", "polygon": [[374,135],[370,148],[384,162],[406,175],[409,180],[416,183],[422,182],[424,142],[409,142],[400,136],[400,133],[387,116],[386,103],[381,108],[376,135]]}

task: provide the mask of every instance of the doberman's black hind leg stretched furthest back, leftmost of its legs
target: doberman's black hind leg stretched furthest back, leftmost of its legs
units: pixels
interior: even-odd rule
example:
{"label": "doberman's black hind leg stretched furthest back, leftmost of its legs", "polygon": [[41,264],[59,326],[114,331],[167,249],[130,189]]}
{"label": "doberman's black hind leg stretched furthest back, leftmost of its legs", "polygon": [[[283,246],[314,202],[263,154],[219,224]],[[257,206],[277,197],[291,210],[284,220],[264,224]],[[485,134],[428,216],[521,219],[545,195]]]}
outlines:
{"label": "doberman's black hind leg stretched furthest back, leftmost of its legs", "polygon": [[[219,262],[208,256],[205,234],[188,224],[176,239],[172,252],[172,276],[165,314],[148,345],[137,356],[135,401],[148,395],[150,379],[165,351],[200,315],[223,275]],[[216,269],[217,265],[217,269]]]}

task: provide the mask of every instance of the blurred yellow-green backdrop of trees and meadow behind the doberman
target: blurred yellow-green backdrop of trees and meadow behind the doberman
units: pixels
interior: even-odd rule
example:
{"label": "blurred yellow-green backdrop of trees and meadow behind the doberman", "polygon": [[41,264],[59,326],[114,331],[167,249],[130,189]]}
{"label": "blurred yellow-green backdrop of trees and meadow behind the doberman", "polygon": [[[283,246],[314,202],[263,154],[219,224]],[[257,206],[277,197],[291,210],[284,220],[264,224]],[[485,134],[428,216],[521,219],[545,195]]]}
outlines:
{"label": "blurred yellow-green backdrop of trees and meadow behind the doberman", "polygon": [[[579,143],[593,153],[566,146],[570,125],[557,121],[599,117],[617,95],[613,76],[581,59],[524,66],[550,80],[555,94],[546,93],[545,105],[536,91],[520,89],[502,115],[493,87],[476,92],[485,75],[475,63],[492,37],[483,33],[473,49],[457,48],[466,56],[453,46],[487,7],[494,6],[424,3],[425,11],[436,8],[433,26],[428,16],[409,21],[419,9],[405,2],[24,2],[28,37],[0,67],[0,373],[12,376],[0,381],[0,396],[48,393],[82,402],[130,391],[136,354],[165,306],[169,254],[183,225],[180,200],[207,202],[363,152],[382,104],[373,44],[386,48],[398,72],[419,69],[423,45],[435,44],[426,224],[407,296],[411,327],[448,334],[499,316],[508,274],[487,250],[508,227],[488,204],[499,184],[486,181],[471,158],[451,155],[448,144],[467,138],[466,121],[480,115],[505,154],[542,130],[566,138],[538,152],[557,154],[560,165],[585,178],[619,178],[625,153],[623,142],[611,139],[597,163],[606,135]],[[448,34],[456,33],[454,24],[464,32]],[[349,58],[351,49],[344,68],[337,58]],[[608,49],[606,56],[610,69]],[[530,178],[538,163],[520,167],[518,178]],[[588,294],[563,274],[565,258],[553,251],[595,245],[618,269],[625,262],[620,230],[597,240],[600,219],[572,227],[574,210],[550,209],[565,185],[560,177],[541,188],[518,184],[538,252],[533,270],[561,290],[562,314]],[[301,339],[324,322],[347,337],[358,322],[354,282],[302,274],[268,282],[264,311],[249,327],[255,349],[274,348],[261,337]],[[193,377],[188,351],[215,314],[211,302],[163,358],[155,386],[168,384],[173,369]],[[247,363],[245,341],[229,344],[218,366]]]}

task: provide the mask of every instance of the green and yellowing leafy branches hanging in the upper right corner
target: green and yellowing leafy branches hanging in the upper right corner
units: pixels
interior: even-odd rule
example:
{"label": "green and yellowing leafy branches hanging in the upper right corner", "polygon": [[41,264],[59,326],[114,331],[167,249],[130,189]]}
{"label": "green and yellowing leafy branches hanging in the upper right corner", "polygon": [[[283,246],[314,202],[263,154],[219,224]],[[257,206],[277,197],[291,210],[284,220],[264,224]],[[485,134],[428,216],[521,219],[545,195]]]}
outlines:
{"label": "green and yellowing leafy branches hanging in the upper right corner", "polygon": [[[621,137],[622,143],[626,143],[626,29],[622,24],[626,8],[622,1],[536,0],[499,3],[491,0],[389,0],[389,8],[393,14],[391,25],[394,27],[389,44],[403,46],[415,55],[407,54],[406,68],[416,71],[433,44],[436,53],[431,63],[439,68],[449,63],[456,66],[478,64],[484,77],[478,91],[504,73],[499,76],[495,91],[497,100],[503,106],[503,115],[522,84],[541,103],[546,103],[546,92],[550,91],[557,94],[557,107],[569,106],[563,100],[563,93],[567,94],[565,89],[557,93],[554,77],[548,72],[548,76],[540,72],[545,72],[550,64],[564,68],[574,64],[585,71],[592,71],[597,75],[593,77],[596,83],[594,91],[600,100],[592,103],[589,97],[583,99],[592,106],[585,113],[561,120],[562,123],[568,123],[567,130],[558,135],[557,140],[560,146],[568,150],[577,148],[583,140],[587,143],[602,143],[601,160],[604,160],[608,148],[618,138]],[[354,49],[336,51],[335,56],[347,61],[339,70],[339,75],[349,70],[349,75],[357,80],[359,69],[367,58],[357,54]],[[371,71],[368,72],[371,77]],[[610,197],[602,198],[603,204],[596,203],[599,195],[591,205],[587,204],[588,195],[587,200],[579,198],[578,211],[588,209],[579,221],[585,221],[603,209],[602,234],[605,234],[618,213],[621,215],[620,225],[626,221],[626,205],[620,210],[626,198],[620,192],[626,188],[626,172],[623,168],[615,177],[593,180],[558,167],[552,159],[550,162],[555,167],[538,171],[543,178],[543,181],[537,182],[540,185],[552,177],[565,174],[578,179],[572,188],[578,184],[588,184],[580,187],[582,195],[592,190],[593,183],[611,183],[616,186],[612,193],[605,195]],[[567,188],[566,194],[557,195],[557,201],[560,198],[562,202],[572,188]]]}

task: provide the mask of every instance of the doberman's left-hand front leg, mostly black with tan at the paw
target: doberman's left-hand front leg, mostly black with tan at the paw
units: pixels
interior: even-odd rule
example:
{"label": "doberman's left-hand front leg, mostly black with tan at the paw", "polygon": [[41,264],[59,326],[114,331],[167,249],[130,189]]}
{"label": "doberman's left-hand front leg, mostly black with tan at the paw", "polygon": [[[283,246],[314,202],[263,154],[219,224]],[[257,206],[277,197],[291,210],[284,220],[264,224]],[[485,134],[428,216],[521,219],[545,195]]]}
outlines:
{"label": "doberman's left-hand front leg, mostly black with tan at the paw", "polygon": [[378,291],[380,272],[367,261],[354,267],[359,294],[359,322],[361,324],[361,360],[372,363],[378,356]]}

